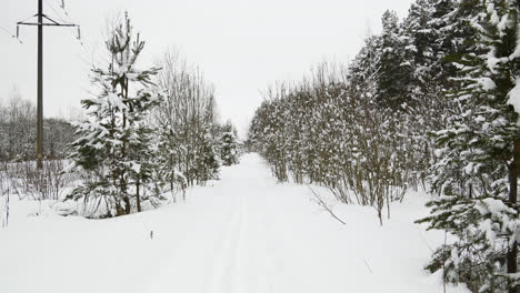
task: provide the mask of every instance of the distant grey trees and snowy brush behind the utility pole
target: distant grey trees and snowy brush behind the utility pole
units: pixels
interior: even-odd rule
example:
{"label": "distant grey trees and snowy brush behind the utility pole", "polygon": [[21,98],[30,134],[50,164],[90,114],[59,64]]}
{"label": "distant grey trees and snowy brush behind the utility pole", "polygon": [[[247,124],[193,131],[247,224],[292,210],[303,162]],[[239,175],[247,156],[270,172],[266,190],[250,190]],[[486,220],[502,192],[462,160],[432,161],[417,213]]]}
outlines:
{"label": "distant grey trees and snowy brush behind the utility pole", "polygon": [[[43,169],[37,169],[36,109],[13,90],[0,100],[0,222],[7,225],[9,198],[59,200],[74,178],[62,174],[62,160],[73,141],[73,127],[66,120],[44,119]],[[2,209],[3,206],[3,209]]]}

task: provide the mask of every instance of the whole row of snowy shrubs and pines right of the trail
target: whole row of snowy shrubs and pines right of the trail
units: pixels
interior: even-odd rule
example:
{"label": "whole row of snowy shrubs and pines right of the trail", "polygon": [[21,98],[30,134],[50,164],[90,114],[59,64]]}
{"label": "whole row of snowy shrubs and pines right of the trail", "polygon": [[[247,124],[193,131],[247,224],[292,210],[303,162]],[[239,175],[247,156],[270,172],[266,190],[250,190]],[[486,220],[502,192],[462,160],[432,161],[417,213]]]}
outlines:
{"label": "whole row of snowy shrubs and pines right of the trail", "polygon": [[519,292],[520,4],[417,0],[382,16],[346,68],[278,83],[248,145],[280,181],[317,183],[374,206],[430,191],[420,223],[453,236],[427,269],[473,292]]}

